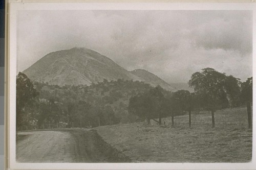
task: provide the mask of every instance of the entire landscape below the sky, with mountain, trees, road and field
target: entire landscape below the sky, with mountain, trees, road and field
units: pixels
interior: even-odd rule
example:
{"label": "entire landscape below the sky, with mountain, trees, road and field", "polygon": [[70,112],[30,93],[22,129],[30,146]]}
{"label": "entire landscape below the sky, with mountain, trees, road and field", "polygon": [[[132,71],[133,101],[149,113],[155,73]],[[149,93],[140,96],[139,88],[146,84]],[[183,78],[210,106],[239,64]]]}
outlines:
{"label": "entire landscape below the sky, with mountain, trees, road and field", "polygon": [[214,68],[168,84],[87,48],[16,77],[16,161],[250,162],[252,77]]}

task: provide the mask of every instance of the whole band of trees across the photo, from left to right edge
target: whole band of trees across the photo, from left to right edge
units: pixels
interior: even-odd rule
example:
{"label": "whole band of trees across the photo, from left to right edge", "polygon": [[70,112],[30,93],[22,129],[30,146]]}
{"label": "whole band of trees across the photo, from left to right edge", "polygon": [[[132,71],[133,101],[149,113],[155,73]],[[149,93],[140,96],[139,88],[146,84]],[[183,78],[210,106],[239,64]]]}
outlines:
{"label": "whole band of trees across the photo, from left to right edge", "polygon": [[[96,127],[147,120],[162,124],[162,118],[191,111],[214,113],[227,107],[247,106],[251,128],[252,77],[240,79],[204,68],[195,72],[189,80],[194,92],[167,91],[139,81],[122,80],[93,83],[90,86],[58,86],[33,82],[19,72],[16,77],[16,130]],[[24,128],[25,130],[25,128]]]}

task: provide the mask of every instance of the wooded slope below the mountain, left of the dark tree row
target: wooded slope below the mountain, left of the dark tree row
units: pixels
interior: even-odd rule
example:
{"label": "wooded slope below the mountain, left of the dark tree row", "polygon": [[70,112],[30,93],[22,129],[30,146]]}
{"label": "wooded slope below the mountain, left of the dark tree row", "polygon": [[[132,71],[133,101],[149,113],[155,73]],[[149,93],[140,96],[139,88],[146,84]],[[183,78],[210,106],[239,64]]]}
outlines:
{"label": "wooded slope below the mountain, left of the dark tree row", "polygon": [[17,130],[96,127],[140,121],[130,115],[131,96],[152,88],[144,82],[122,80],[87,85],[50,85],[16,77]]}

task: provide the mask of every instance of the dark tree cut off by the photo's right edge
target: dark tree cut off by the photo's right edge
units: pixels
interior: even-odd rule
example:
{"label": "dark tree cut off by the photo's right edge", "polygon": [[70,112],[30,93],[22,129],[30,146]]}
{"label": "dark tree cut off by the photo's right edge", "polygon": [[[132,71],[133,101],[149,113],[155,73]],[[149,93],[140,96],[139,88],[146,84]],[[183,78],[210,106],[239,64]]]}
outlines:
{"label": "dark tree cut off by the photo's right edge", "polygon": [[248,116],[248,126],[252,128],[252,116],[251,116],[251,102],[252,102],[252,77],[248,78],[241,85],[241,100],[247,105],[247,116]]}

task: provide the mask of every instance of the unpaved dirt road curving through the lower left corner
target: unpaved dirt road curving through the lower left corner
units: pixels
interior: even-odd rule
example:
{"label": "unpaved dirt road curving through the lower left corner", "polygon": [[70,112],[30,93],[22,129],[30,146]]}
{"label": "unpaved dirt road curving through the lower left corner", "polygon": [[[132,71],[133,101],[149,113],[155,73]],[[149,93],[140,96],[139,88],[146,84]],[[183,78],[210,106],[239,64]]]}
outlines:
{"label": "unpaved dirt road curving through the lower left corner", "polygon": [[[60,130],[19,132],[17,162],[118,162],[113,150],[94,131]],[[123,161],[123,160],[120,160]]]}

